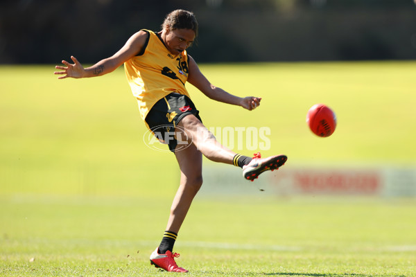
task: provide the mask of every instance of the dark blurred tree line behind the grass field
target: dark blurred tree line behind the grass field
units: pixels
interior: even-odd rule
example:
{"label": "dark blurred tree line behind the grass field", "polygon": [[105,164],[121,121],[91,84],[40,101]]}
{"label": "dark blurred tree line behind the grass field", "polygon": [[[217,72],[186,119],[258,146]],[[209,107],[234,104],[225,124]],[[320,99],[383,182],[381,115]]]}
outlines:
{"label": "dark blurred tree line behind the grass field", "polygon": [[197,62],[416,58],[413,0],[2,0],[0,63],[92,63],[177,8],[200,23]]}

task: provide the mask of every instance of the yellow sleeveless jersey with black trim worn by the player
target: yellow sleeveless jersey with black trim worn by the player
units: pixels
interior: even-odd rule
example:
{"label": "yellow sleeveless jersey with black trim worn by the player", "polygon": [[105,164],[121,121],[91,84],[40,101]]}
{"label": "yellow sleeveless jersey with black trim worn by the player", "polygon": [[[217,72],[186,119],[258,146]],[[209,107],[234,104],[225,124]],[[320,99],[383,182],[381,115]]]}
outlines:
{"label": "yellow sleeveless jersey with black trim worn by the player", "polygon": [[185,88],[189,72],[187,51],[172,55],[156,33],[144,31],[148,34],[144,48],[124,63],[125,75],[143,120],[153,105],[169,93],[189,97]]}

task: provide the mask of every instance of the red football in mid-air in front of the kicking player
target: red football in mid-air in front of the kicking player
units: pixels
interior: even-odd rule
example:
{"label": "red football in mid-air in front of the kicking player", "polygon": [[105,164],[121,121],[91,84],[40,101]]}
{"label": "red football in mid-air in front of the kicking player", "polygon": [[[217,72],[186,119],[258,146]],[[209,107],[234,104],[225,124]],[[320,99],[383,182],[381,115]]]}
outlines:
{"label": "red football in mid-air in front of the kicking player", "polygon": [[329,107],[316,104],[306,114],[306,123],[313,134],[317,136],[331,136],[336,127],[336,116]]}

